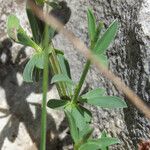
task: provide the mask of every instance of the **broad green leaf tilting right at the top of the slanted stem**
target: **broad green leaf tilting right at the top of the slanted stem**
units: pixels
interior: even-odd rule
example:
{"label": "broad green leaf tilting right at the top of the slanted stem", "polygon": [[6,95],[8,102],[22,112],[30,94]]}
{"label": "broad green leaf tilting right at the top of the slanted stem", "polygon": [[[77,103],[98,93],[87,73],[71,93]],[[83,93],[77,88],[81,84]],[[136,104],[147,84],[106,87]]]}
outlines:
{"label": "broad green leaf tilting right at the top of the slanted stem", "polygon": [[107,48],[109,47],[110,43],[115,38],[115,35],[118,30],[118,21],[114,20],[105,33],[102,35],[101,38],[98,39],[96,45],[94,47],[94,52],[103,54]]}

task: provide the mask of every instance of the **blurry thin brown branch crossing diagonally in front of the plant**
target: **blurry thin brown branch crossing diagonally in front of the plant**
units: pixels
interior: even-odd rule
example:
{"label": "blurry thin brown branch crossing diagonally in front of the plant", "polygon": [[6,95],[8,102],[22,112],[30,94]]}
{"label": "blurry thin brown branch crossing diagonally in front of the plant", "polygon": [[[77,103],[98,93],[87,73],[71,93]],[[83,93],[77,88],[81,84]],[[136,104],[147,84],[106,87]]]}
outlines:
{"label": "blurry thin brown branch crossing diagonally in front of the plant", "polygon": [[99,69],[100,73],[109,80],[118,88],[119,91],[122,91],[147,118],[150,119],[150,108],[145,105],[144,101],[137,96],[121,79],[115,76],[110,70],[105,68],[101,63],[94,57],[91,50],[86,47],[86,45],[77,38],[71,31],[64,28],[64,25],[61,24],[56,18],[50,14],[44,14],[43,11],[38,8],[31,0],[28,0],[28,3],[35,13],[41,20],[45,21],[47,24],[55,28],[59,33],[62,33],[67,39],[84,55],[86,58],[90,59],[93,64]]}

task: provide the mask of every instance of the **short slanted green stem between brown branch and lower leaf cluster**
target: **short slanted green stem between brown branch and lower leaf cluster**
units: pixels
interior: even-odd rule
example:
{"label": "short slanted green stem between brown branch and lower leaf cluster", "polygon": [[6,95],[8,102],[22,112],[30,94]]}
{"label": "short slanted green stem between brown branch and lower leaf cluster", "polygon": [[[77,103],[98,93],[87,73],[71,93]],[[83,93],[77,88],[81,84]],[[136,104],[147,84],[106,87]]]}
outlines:
{"label": "short slanted green stem between brown branch and lower leaf cluster", "polygon": [[83,72],[82,72],[81,78],[80,78],[80,80],[79,80],[79,83],[78,83],[78,85],[77,85],[77,87],[76,87],[76,89],[75,89],[75,94],[74,94],[73,99],[72,99],[72,101],[73,101],[74,103],[76,103],[76,102],[78,101],[78,96],[79,96],[79,94],[80,94],[82,85],[83,85],[83,83],[84,83],[84,81],[85,81],[86,75],[87,75],[88,70],[89,70],[89,68],[90,68],[90,64],[91,64],[91,61],[90,61],[90,60],[87,60],[87,62],[86,62],[86,64],[85,64],[85,67],[84,67],[84,70],[83,70]]}

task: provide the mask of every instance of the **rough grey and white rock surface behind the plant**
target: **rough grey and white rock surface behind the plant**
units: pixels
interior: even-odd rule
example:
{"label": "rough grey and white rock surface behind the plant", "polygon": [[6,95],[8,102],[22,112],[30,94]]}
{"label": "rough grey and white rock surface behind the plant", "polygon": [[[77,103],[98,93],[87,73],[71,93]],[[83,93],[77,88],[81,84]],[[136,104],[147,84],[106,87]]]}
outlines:
{"label": "rough grey and white rock surface behind the plant", "polygon": [[[26,15],[23,5],[16,4],[11,0],[7,0],[7,2],[0,0],[0,2],[0,37],[2,40],[6,37],[5,21],[6,16],[9,13],[16,13],[22,20],[22,24],[25,27],[27,22],[25,19]],[[111,23],[111,21],[113,21],[113,19],[118,18],[120,22],[120,30],[114,44],[110,47],[107,53],[110,62],[110,69],[116,75],[121,77],[127,85],[129,85],[141,98],[145,100],[147,104],[149,104],[150,1],[67,0],[67,3],[72,11],[67,28],[73,31],[85,43],[88,43],[86,19],[86,10],[88,7],[94,9],[97,20],[104,20],[106,27]],[[71,64],[73,78],[77,81],[82,71],[85,59],[80,53],[74,51],[74,47],[62,35],[56,36],[54,43],[56,47],[64,49],[66,57],[69,59]],[[14,47],[15,51],[13,51]],[[17,52],[19,51],[19,46],[13,45],[13,47],[9,49],[12,50],[14,62]],[[27,49],[26,52],[27,54],[30,54],[30,49]],[[1,61],[4,58],[5,56],[3,55],[2,57],[1,53]],[[10,115],[11,117],[9,118],[7,117],[7,119],[3,118],[2,121],[0,120],[0,124],[2,124],[0,147],[3,147],[5,150],[9,150],[9,147],[16,143],[14,144],[14,149],[26,149],[26,146],[29,146],[31,145],[30,143],[34,142],[35,134],[38,134],[36,132],[39,131],[40,125],[40,110],[38,111],[38,119],[36,119],[36,117],[30,117],[32,116],[31,110],[33,109],[30,108],[30,105],[27,102],[35,102],[35,99],[39,99],[38,102],[40,102],[41,96],[36,94],[35,97],[35,94],[33,94],[36,90],[34,85],[21,84],[22,81],[16,83],[17,75],[20,76],[22,70],[18,70],[20,66],[16,63],[13,64],[10,59],[8,59],[8,64],[3,62],[0,65],[0,70],[2,72],[2,75],[0,76],[0,95],[2,99],[0,106],[2,105],[2,108],[9,107],[9,112],[12,115]],[[18,78],[21,79],[21,77]],[[94,67],[90,70],[86,82],[90,88],[103,86],[107,88],[108,94],[121,95],[110,81],[101,77]],[[54,90],[51,90],[51,94],[53,96],[56,95]],[[5,103],[6,100],[7,103]],[[150,122],[145,119],[143,114],[137,111],[130,103],[128,105],[128,109],[125,110],[91,108],[94,115],[94,136],[98,136],[103,129],[106,129],[108,133],[112,136],[118,137],[122,141],[120,145],[113,146],[111,149],[136,149],[140,139],[150,138]],[[25,107],[25,109],[22,109],[23,107]],[[59,112],[53,113],[53,115],[49,114],[51,118],[49,122],[51,126],[53,126],[52,128],[50,127],[49,130],[52,129],[52,131],[55,131],[54,133],[56,135],[60,132],[57,130],[61,122],[59,117],[60,114],[61,113]],[[16,116],[18,116],[19,119],[18,117],[16,118]],[[54,119],[51,116],[53,116]],[[10,123],[12,125],[9,125],[9,122],[5,124],[9,119],[13,120],[12,123]],[[22,122],[23,124],[18,122]],[[55,122],[57,122],[57,126],[55,125]],[[13,126],[17,127],[13,128]],[[38,129],[38,131],[36,129]],[[11,132],[13,133],[10,134]],[[11,138],[14,136],[13,134],[15,134],[17,138],[13,138],[12,140]],[[26,135],[26,138],[22,138],[25,137],[23,135]],[[35,143],[39,143],[38,139]]]}

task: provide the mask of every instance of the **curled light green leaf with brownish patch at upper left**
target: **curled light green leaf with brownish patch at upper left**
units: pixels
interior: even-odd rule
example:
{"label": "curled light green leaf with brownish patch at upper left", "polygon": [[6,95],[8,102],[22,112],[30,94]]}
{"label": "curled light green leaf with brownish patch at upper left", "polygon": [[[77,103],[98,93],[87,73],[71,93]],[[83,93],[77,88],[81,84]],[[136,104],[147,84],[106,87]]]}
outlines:
{"label": "curled light green leaf with brownish patch at upper left", "polygon": [[7,20],[7,32],[11,39],[25,46],[33,47],[37,51],[42,51],[41,48],[27,35],[20,26],[19,19],[10,15]]}

